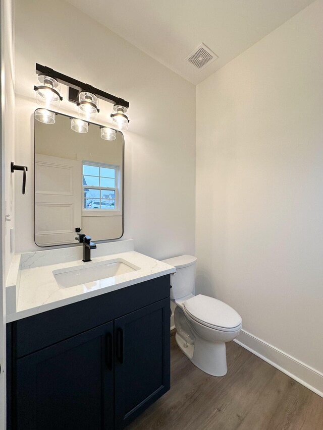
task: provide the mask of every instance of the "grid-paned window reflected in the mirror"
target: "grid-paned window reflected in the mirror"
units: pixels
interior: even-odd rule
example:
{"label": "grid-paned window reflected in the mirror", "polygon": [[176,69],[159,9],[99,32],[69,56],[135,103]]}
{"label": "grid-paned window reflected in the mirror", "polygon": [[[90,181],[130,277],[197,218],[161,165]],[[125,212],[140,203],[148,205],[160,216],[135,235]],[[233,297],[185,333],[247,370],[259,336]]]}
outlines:
{"label": "grid-paned window reflected in the mirror", "polygon": [[119,166],[83,162],[83,210],[119,210]]}

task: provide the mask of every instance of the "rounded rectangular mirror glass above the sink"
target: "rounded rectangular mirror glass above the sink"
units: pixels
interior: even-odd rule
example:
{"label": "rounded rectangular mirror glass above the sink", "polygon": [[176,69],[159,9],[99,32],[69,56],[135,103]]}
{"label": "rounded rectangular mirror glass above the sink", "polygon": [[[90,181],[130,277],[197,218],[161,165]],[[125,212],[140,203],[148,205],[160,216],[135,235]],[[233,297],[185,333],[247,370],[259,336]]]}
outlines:
{"label": "rounded rectangular mirror glass above the sink", "polygon": [[35,243],[49,247],[123,234],[124,138],[101,138],[100,126],[87,133],[71,129],[57,113],[54,124],[35,119]]}

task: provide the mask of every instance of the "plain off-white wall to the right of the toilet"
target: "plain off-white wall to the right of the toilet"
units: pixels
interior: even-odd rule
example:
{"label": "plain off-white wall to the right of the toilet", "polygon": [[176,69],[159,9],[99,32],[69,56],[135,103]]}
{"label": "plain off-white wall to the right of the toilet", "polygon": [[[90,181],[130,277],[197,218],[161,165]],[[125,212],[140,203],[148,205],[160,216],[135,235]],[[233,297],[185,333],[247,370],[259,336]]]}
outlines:
{"label": "plain off-white wall to the right of the toilet", "polygon": [[199,84],[196,106],[197,288],[319,372],[322,19],[318,0]]}

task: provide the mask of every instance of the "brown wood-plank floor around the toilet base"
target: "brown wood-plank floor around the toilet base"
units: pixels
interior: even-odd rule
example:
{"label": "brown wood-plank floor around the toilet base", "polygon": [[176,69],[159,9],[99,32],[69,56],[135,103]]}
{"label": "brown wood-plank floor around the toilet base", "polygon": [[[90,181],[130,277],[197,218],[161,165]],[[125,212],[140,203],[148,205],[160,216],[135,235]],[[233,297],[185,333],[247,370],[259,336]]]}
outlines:
{"label": "brown wood-plank floor around the toilet base", "polygon": [[205,374],[171,335],[171,390],[127,430],[322,430],[323,398],[235,342],[228,373]]}

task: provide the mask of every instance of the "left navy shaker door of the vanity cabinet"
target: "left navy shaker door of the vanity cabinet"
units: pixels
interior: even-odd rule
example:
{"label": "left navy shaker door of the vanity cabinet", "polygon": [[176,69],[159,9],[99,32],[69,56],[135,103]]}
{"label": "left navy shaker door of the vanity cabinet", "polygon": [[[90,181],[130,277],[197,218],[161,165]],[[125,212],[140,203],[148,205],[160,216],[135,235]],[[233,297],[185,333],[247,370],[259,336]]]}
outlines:
{"label": "left navy shaker door of the vanity cabinet", "polygon": [[17,360],[18,430],[114,428],[113,322]]}

